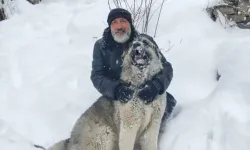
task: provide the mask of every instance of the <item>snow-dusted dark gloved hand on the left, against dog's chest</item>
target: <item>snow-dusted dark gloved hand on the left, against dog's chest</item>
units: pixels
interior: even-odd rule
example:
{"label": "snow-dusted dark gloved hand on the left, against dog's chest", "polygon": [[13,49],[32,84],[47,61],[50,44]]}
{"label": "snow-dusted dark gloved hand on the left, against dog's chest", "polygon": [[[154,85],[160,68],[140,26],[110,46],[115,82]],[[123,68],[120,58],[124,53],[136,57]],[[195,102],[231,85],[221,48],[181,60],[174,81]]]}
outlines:
{"label": "snow-dusted dark gloved hand on the left, against dog's chest", "polygon": [[116,88],[115,96],[116,99],[119,100],[121,103],[127,103],[129,100],[132,99],[134,91],[129,88],[129,86],[125,84],[119,84]]}

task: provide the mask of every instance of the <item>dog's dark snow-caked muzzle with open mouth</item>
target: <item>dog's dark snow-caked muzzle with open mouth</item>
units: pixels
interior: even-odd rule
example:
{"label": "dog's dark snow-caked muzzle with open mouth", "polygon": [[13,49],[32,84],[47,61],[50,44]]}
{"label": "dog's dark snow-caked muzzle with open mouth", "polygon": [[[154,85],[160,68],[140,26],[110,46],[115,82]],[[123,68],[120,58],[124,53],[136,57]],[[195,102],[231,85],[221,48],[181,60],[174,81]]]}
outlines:
{"label": "dog's dark snow-caked muzzle with open mouth", "polygon": [[132,49],[131,57],[137,66],[145,66],[150,60],[148,52],[141,46]]}

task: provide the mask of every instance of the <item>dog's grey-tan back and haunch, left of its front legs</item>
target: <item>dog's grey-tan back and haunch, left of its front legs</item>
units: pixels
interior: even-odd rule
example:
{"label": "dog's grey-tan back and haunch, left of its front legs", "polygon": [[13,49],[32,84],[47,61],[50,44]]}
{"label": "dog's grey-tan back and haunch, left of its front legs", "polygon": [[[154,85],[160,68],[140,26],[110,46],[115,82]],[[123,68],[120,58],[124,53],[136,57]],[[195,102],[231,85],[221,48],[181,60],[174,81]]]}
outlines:
{"label": "dog's grey-tan back and haunch, left of its front legs", "polygon": [[115,143],[117,132],[114,125],[114,104],[105,97],[100,97],[87,109],[75,123],[69,140],[63,140],[49,150],[117,150],[110,147],[107,140]]}

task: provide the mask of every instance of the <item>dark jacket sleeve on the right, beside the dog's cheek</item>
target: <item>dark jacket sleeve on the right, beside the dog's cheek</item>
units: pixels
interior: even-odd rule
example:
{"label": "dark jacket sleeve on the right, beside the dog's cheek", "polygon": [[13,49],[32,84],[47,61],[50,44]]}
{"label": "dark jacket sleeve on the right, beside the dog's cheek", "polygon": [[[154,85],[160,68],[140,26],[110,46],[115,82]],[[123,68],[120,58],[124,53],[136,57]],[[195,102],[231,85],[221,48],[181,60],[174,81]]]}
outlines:
{"label": "dark jacket sleeve on the right, beside the dog's cheek", "polygon": [[153,79],[160,81],[160,91],[159,94],[163,94],[168,86],[170,85],[172,78],[173,78],[173,68],[172,65],[166,60],[164,55],[160,52],[161,55],[161,62],[163,65],[163,70],[159,74],[157,74]]}

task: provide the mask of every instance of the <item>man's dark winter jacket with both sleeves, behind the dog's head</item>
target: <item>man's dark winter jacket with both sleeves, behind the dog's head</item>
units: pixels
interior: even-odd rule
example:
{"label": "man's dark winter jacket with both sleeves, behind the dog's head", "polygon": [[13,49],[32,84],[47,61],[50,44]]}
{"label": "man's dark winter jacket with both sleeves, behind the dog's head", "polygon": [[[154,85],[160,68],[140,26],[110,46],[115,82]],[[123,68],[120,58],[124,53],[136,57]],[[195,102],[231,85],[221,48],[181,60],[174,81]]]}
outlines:
{"label": "man's dark winter jacket with both sleeves, behind the dog's head", "polygon": [[[119,79],[122,70],[121,56],[123,51],[128,49],[129,44],[137,35],[138,33],[132,26],[131,37],[128,42],[119,44],[113,40],[110,29],[107,28],[104,30],[103,37],[95,43],[91,80],[95,88],[102,95],[115,99],[115,89],[120,83]],[[153,38],[151,39],[153,41]],[[155,76],[155,78],[158,78],[162,83],[160,94],[166,91],[173,77],[172,66],[167,62],[164,56],[162,57],[162,63],[164,66],[163,72]]]}

